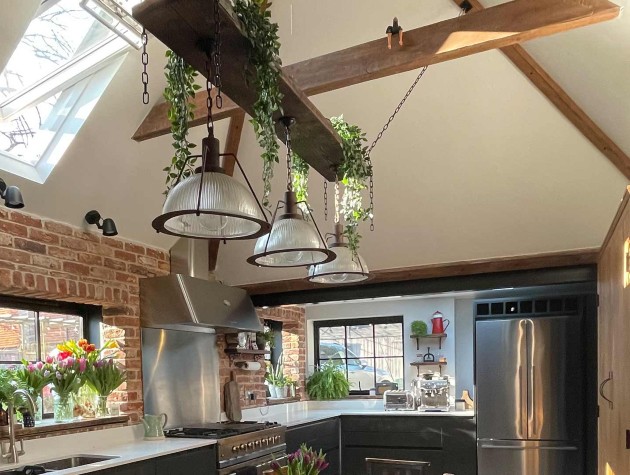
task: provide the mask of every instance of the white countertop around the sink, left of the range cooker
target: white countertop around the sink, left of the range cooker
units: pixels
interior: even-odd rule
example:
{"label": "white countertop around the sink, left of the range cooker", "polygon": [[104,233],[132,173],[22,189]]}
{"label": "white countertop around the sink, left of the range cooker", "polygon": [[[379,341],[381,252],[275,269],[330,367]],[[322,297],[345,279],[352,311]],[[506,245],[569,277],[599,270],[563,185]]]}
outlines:
{"label": "white countertop around the sink, left of the range cooker", "polygon": [[20,463],[0,463],[0,475],[3,470],[20,468],[24,465],[37,465],[74,455],[116,456],[110,460],[52,472],[55,475],[78,475],[214,445],[217,442],[213,439],[172,438],[145,441],[142,439],[142,432],[142,426],[136,425],[27,440],[24,443],[26,455],[20,457]]}

